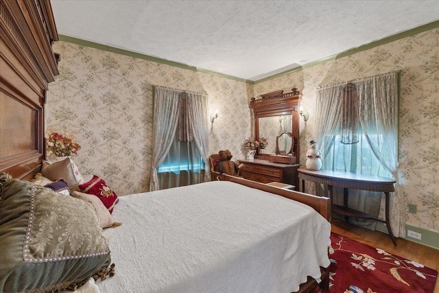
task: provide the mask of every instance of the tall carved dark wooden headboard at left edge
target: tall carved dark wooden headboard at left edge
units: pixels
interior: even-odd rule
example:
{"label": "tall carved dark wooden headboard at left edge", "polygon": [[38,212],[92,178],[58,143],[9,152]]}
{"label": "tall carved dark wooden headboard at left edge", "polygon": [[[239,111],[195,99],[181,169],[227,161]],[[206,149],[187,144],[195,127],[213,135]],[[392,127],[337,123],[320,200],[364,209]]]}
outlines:
{"label": "tall carved dark wooden headboard at left edge", "polygon": [[29,179],[45,159],[45,97],[58,75],[49,0],[0,0],[0,172]]}

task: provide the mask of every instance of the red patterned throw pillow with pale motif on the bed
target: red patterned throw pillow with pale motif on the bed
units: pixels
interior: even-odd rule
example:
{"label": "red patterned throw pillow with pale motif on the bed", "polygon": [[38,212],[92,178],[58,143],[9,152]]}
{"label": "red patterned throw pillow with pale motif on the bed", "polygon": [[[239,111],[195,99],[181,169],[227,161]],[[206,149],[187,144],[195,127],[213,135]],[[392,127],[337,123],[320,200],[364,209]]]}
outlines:
{"label": "red patterned throw pillow with pale motif on the bed", "polygon": [[97,196],[110,213],[112,213],[115,204],[119,202],[115,191],[112,191],[105,183],[104,179],[99,176],[93,175],[93,178],[90,181],[80,184],[79,187],[80,191],[84,194],[93,194],[94,196]]}

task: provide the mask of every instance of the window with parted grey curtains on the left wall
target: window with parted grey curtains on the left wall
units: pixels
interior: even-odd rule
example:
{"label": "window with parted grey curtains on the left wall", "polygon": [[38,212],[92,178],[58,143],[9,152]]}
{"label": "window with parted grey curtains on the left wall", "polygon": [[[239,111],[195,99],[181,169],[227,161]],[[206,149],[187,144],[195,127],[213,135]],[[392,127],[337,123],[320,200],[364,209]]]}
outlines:
{"label": "window with parted grey curtains on the left wall", "polygon": [[[202,183],[207,161],[207,96],[154,87],[150,190]],[[206,175],[207,174],[207,175]]]}

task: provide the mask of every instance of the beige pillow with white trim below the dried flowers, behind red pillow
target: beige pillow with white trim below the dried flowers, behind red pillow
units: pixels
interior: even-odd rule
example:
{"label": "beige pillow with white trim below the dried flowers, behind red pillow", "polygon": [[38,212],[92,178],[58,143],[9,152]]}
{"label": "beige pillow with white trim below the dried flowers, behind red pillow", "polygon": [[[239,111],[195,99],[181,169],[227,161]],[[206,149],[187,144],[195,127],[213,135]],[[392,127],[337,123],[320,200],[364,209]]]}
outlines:
{"label": "beige pillow with white trim below the dried flowers, behind red pillow", "polygon": [[[63,178],[67,182],[67,185],[69,185],[71,191],[77,190],[78,185],[82,183],[82,176],[80,176],[79,171],[75,171],[76,165],[72,165],[71,162],[73,161],[69,157],[64,157],[64,160],[58,162],[44,161],[41,174],[53,181]],[[78,174],[75,174],[75,172],[77,172],[80,177]]]}

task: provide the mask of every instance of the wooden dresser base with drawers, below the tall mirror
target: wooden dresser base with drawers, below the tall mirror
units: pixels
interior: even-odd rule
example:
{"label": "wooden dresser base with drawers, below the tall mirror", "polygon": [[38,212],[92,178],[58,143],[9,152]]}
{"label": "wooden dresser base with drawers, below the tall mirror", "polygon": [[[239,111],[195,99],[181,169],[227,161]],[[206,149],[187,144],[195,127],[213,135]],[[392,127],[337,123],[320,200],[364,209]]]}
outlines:
{"label": "wooden dresser base with drawers, below the tall mirror", "polygon": [[272,163],[267,160],[239,159],[239,163],[244,163],[245,167],[241,170],[241,176],[248,180],[260,183],[281,182],[294,185],[298,190],[297,169],[300,164],[288,165]]}

